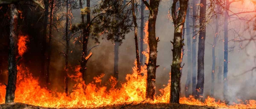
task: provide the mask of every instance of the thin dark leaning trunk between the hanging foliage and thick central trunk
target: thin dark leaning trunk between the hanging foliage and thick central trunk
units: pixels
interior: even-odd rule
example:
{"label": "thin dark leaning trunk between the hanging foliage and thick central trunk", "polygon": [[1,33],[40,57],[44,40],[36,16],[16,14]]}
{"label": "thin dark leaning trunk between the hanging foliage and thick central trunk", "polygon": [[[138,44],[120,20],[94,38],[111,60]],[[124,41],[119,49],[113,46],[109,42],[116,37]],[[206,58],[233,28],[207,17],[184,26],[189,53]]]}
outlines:
{"label": "thin dark leaning trunk between the hanging foliage and thick central trunk", "polygon": [[139,45],[138,45],[138,24],[137,19],[135,15],[135,1],[132,0],[132,17],[133,17],[133,23],[134,23],[134,39],[135,39],[135,50],[136,50],[136,62],[137,62],[137,72],[140,74],[140,57],[139,57]]}

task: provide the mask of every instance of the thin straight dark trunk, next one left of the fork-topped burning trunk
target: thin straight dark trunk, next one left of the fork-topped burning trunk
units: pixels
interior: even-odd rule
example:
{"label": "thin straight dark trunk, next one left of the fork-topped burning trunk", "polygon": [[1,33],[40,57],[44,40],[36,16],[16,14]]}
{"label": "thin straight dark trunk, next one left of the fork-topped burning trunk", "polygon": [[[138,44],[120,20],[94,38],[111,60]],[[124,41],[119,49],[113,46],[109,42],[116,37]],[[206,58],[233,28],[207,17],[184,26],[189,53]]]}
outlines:
{"label": "thin straight dark trunk, next one left of the fork-topped burning trunk", "polygon": [[68,0],[66,1],[66,53],[65,53],[65,93],[68,96],[68,48],[69,48],[69,35],[68,35]]}

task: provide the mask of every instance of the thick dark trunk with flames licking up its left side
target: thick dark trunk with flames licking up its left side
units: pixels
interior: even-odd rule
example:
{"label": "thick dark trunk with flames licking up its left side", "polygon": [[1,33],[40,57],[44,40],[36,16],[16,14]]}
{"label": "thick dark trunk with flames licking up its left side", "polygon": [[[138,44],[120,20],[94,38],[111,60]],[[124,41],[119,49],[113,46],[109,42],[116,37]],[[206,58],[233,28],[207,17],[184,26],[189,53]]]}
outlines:
{"label": "thick dark trunk with flames licking up its left side", "polygon": [[146,98],[154,100],[155,95],[155,72],[157,70],[157,43],[158,37],[155,37],[155,23],[157,21],[158,6],[160,0],[150,0],[150,4],[147,1],[143,3],[149,9],[148,17],[148,47],[149,47],[149,59],[147,64],[147,86],[146,86]]}

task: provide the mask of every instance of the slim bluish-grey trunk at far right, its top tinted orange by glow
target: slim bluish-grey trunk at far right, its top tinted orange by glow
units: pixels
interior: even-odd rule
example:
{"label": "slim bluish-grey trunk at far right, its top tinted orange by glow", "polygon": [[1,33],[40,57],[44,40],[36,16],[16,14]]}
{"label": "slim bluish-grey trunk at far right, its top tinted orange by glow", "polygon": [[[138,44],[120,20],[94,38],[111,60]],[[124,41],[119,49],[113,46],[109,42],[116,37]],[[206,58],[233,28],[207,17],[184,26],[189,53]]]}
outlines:
{"label": "slim bluish-grey trunk at far right, its top tinted orange by glow", "polygon": [[228,19],[229,19],[229,0],[226,0],[226,9],[224,13],[224,70],[223,70],[223,94],[227,101],[227,63],[228,63]]}

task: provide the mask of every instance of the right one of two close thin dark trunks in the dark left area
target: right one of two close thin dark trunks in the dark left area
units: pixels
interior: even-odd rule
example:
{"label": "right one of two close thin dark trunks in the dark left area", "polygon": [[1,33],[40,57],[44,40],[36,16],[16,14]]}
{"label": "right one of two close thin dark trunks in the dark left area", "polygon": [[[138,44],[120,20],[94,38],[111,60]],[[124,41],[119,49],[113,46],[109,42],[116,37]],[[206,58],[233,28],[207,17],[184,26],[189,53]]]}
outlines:
{"label": "right one of two close thin dark trunks in the dark left area", "polygon": [[53,15],[53,3],[54,0],[51,1],[51,8],[50,8],[50,27],[49,27],[49,46],[48,46],[48,57],[47,57],[47,66],[46,66],[46,85],[48,86],[49,83],[49,74],[50,74],[50,60],[52,55],[52,15]]}

